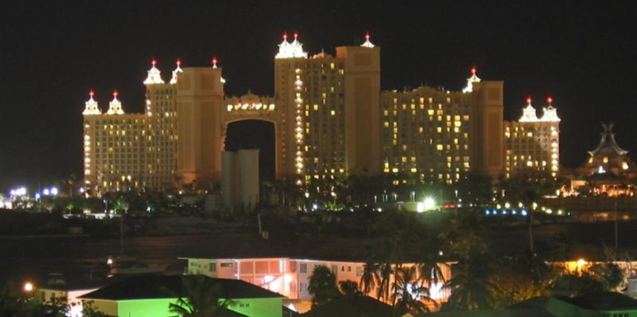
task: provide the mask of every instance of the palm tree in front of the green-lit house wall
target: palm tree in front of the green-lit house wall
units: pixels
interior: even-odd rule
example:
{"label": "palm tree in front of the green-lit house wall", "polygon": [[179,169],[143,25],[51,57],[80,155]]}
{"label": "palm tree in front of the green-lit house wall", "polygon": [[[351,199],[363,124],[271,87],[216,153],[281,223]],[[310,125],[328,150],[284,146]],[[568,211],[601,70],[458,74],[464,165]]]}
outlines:
{"label": "palm tree in front of the green-lit house wall", "polygon": [[170,303],[171,313],[181,317],[218,316],[233,300],[219,297],[221,286],[203,275],[190,275],[182,278],[185,297],[179,297],[176,303]]}

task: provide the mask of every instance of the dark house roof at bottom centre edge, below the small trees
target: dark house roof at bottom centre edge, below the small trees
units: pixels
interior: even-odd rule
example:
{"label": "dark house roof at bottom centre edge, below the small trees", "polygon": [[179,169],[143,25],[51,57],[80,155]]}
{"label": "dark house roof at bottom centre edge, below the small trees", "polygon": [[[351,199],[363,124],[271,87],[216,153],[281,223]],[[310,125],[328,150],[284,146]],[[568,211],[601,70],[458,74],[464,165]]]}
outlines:
{"label": "dark house roof at bottom centre edge, below the small trees", "polygon": [[326,304],[313,307],[301,316],[309,317],[334,317],[334,316],[369,316],[389,317],[393,316],[391,306],[368,296],[339,297],[330,300]]}

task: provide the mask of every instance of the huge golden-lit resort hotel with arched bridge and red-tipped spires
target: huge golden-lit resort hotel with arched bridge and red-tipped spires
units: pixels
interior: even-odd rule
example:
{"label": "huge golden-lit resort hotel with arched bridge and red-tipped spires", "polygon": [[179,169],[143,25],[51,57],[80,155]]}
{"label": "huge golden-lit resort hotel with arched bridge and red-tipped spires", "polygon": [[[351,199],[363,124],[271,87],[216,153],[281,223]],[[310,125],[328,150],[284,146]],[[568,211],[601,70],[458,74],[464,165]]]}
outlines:
{"label": "huge golden-lit resort hotel with arched bridge and red-tipped spires", "polygon": [[527,107],[520,122],[505,123],[503,81],[480,80],[472,69],[462,91],[381,91],[380,47],[369,36],[335,55],[308,55],[297,34],[278,46],[273,97],[225,96],[216,59],[211,67],[178,62],[168,83],[153,61],[145,113],[125,114],[117,93],[103,113],[91,93],[83,112],[87,187],[217,183],[227,125],[248,119],[274,123],[276,177],[299,185],[351,175],[452,183],[468,172],[557,173],[555,109],[537,119]]}

